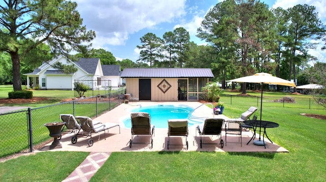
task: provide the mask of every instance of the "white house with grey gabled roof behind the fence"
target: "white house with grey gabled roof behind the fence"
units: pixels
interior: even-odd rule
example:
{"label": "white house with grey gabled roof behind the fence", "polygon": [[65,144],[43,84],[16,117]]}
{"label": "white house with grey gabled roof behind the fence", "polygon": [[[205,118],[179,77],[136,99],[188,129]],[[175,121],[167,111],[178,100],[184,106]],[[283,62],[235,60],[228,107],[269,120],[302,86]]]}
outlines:
{"label": "white house with grey gabled roof behind the fence", "polygon": [[[63,70],[58,70],[51,66],[55,63],[73,65],[77,68],[77,71],[74,73],[64,73]],[[91,89],[100,89],[108,86],[118,87],[118,85],[121,84],[120,66],[106,65],[104,67],[109,70],[103,70],[99,58],[80,58],[78,62],[72,62],[61,55],[53,58],[47,63],[44,62],[32,73],[24,75],[27,76],[27,88],[38,85],[39,89],[73,90],[73,83],[75,81],[83,82],[90,86]],[[109,74],[108,72],[110,72],[110,70],[113,71],[114,74],[108,75],[110,77],[105,77],[105,74]],[[30,80],[33,80],[32,83]]]}

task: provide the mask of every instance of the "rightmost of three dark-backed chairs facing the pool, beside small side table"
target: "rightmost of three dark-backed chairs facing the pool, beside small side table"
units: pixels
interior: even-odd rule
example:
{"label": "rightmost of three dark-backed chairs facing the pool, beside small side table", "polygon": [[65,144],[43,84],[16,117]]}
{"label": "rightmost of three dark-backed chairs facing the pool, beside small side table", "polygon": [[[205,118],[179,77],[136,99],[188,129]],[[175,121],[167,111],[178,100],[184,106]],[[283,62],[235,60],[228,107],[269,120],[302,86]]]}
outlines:
{"label": "rightmost of three dark-backed chairs facing the pool, beside small side table", "polygon": [[[202,148],[202,144],[216,144],[216,143],[203,143],[202,136],[203,135],[217,135],[219,136],[221,147],[223,148],[224,142],[221,137],[222,129],[224,125],[224,119],[222,118],[206,118],[205,122],[196,127],[196,131],[198,131],[200,136],[200,148]],[[197,132],[196,132],[197,136]]]}

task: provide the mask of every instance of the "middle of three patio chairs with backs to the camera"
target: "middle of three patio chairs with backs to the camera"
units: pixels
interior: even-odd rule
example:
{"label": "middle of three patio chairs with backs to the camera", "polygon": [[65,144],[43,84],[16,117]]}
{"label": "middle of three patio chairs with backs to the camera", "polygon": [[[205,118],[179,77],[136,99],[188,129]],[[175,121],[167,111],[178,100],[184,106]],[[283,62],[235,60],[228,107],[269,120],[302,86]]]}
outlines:
{"label": "middle of three patio chairs with backs to the camera", "polygon": [[[171,144],[170,143],[170,136],[184,136],[185,137],[185,146],[186,150],[188,149],[188,141],[187,141],[187,136],[188,136],[188,120],[187,119],[169,119],[168,120],[168,149],[169,145],[180,145],[180,144]],[[184,146],[184,144],[181,144]]]}

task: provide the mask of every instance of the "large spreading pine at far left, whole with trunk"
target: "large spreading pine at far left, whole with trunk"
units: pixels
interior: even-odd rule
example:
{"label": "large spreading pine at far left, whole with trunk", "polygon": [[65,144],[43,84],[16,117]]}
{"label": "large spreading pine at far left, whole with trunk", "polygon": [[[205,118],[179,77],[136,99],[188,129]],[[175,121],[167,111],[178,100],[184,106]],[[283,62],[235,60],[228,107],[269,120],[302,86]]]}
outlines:
{"label": "large spreading pine at far left, whole with trunk", "polygon": [[[46,43],[53,53],[67,54],[95,37],[82,26],[77,3],[63,0],[6,0],[0,5],[0,51],[12,60],[13,88],[21,90],[21,57]],[[26,39],[29,41],[25,43]]]}

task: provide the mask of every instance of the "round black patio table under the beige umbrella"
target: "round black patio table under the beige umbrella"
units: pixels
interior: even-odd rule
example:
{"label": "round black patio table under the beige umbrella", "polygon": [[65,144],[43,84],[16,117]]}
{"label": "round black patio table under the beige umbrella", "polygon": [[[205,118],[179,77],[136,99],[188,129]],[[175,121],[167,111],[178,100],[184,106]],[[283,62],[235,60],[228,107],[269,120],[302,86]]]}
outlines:
{"label": "round black patio table under the beige umbrella", "polygon": [[[266,128],[276,128],[276,127],[279,127],[279,124],[274,123],[274,122],[269,122],[267,120],[246,120],[243,123],[246,124],[246,125],[252,126],[254,128],[254,135],[253,135],[253,137],[251,137],[251,139],[249,140],[248,143],[250,143],[250,141],[256,137],[256,130],[257,130],[257,128],[259,128],[259,140],[258,141],[254,141],[254,144],[256,144],[256,145],[264,145],[265,148],[266,148],[266,144],[265,144],[265,141],[264,141],[265,135],[268,138],[268,135],[266,133]],[[263,132],[263,142],[261,142],[261,139],[260,139],[261,128],[264,129],[264,132]],[[268,140],[271,143],[273,143],[273,141],[271,141],[269,138],[268,138]],[[248,145],[248,143],[247,143],[247,145]]]}

